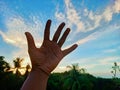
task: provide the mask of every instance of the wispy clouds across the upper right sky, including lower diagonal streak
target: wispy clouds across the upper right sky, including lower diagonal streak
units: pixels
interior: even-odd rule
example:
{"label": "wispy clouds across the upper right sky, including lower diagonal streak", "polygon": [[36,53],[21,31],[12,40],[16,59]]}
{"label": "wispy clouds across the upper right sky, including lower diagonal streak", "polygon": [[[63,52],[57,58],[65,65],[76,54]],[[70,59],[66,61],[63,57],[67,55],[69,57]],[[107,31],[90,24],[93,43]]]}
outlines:
{"label": "wispy clouds across the upper right sky, including lower diagonal streak", "polygon": [[[64,2],[64,12],[61,12],[57,7],[55,17],[58,21],[67,22],[68,26],[74,30],[72,32],[72,36],[75,38],[78,33],[87,34],[93,31],[93,33],[77,40],[76,43],[79,45],[88,41],[96,40],[98,37],[104,35],[104,33],[110,33],[110,31],[120,28],[120,26],[116,25],[115,23],[109,25],[109,22],[111,22],[113,19],[113,15],[118,13],[120,14],[120,0],[115,0],[114,3],[108,4],[108,6],[106,6],[102,12],[101,10],[94,12],[87,8],[84,8],[83,10],[80,8],[76,9],[71,0],[64,0]],[[107,27],[104,27],[104,25]],[[103,30],[100,30],[99,28]]]}

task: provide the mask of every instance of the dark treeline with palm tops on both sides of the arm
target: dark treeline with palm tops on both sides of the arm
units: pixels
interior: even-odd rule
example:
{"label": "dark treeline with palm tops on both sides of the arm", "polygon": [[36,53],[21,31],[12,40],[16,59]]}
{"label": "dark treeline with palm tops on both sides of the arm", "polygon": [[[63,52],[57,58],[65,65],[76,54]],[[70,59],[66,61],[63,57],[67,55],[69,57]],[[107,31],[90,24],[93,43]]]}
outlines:
{"label": "dark treeline with palm tops on both sides of the arm", "polygon": [[[13,60],[14,67],[0,56],[0,90],[20,90],[30,72],[30,65],[21,66],[23,59]],[[49,77],[47,90],[120,90],[120,78],[97,78],[86,73],[78,64],[68,66],[69,71],[52,73]],[[20,69],[25,73],[21,74]]]}

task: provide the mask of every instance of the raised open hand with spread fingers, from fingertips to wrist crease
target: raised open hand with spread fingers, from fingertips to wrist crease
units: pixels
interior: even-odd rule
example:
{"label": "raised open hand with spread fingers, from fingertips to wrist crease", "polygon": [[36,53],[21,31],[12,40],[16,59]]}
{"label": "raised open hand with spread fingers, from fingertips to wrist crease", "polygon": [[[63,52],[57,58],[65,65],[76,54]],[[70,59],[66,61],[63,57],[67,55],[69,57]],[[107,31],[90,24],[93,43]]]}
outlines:
{"label": "raised open hand with spread fingers, from fingertips to wrist crease", "polygon": [[25,33],[28,43],[28,53],[32,63],[32,70],[41,70],[48,75],[56,68],[63,57],[77,47],[77,44],[74,44],[68,49],[61,50],[70,29],[67,28],[58,41],[61,31],[65,26],[65,23],[61,23],[55,32],[53,39],[50,40],[50,26],[51,20],[48,20],[44,31],[44,40],[40,48],[35,46],[32,35],[29,32]]}

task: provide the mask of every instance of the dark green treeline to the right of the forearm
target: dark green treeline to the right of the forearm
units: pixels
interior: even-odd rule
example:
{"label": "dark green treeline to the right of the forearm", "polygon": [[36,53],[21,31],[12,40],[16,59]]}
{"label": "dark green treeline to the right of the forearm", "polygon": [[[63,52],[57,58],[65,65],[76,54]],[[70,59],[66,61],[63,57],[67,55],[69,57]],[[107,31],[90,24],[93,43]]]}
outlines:
{"label": "dark green treeline to the right of the forearm", "polygon": [[72,74],[74,71],[53,73],[47,90],[120,90],[120,79],[96,78],[90,74]]}

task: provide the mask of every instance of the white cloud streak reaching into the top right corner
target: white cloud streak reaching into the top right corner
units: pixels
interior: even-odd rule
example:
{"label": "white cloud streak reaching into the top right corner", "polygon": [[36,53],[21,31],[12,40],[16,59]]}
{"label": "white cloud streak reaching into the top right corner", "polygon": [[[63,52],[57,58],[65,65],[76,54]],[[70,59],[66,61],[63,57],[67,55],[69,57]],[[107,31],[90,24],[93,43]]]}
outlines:
{"label": "white cloud streak reaching into the top right corner", "polygon": [[[87,11],[87,10],[85,10]],[[100,26],[100,23],[102,21],[110,22],[112,20],[112,17],[116,13],[120,13],[120,0],[115,0],[114,4],[107,6],[103,12],[96,12],[93,13],[93,11],[87,11],[89,19],[92,20],[94,25],[91,25],[88,27],[89,30],[94,30],[95,28]],[[91,27],[94,27],[91,29]]]}

